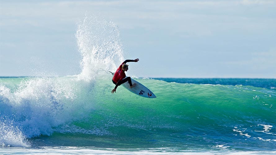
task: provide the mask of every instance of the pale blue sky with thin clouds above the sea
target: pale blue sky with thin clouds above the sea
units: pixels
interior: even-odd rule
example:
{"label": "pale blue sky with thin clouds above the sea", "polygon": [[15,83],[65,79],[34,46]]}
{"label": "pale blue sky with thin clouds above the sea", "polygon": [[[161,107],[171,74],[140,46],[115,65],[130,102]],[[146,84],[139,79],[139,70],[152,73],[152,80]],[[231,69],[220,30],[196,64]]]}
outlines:
{"label": "pale blue sky with thin clouds above the sea", "polygon": [[[81,72],[78,21],[118,25],[128,76],[276,78],[274,0],[0,0],[0,76]],[[120,64],[118,64],[119,66]]]}

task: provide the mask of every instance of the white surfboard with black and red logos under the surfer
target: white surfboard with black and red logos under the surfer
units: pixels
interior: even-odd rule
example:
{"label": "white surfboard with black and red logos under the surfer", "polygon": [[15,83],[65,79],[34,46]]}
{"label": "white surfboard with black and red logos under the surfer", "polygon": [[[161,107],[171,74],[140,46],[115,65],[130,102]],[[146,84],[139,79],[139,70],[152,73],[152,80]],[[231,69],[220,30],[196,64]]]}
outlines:
{"label": "white surfboard with black and red logos under the surfer", "polygon": [[[100,68],[101,69],[101,68]],[[102,69],[104,70],[104,69]],[[104,70],[106,73],[112,74],[114,75],[113,72]],[[130,85],[128,82],[125,82],[122,84],[123,87],[125,87],[127,90],[131,91],[132,93],[145,97],[145,98],[156,98],[156,96],[154,95],[154,93],[152,91],[150,91],[146,86],[142,85],[140,82],[134,80],[131,78],[131,82],[132,84],[136,83],[135,87],[130,88]]]}

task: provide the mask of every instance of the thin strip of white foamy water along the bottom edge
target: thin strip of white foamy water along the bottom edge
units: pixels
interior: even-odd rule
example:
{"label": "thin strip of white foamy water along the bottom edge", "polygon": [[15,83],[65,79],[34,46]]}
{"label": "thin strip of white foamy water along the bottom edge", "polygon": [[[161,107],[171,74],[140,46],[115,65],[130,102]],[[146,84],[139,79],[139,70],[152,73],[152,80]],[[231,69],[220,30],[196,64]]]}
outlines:
{"label": "thin strip of white foamy water along the bottom edge", "polygon": [[173,155],[217,155],[217,154],[250,154],[250,155],[273,155],[276,151],[235,151],[235,150],[175,150],[173,148],[152,148],[152,149],[120,149],[120,148],[94,148],[94,147],[0,147],[0,154],[173,154]]}

